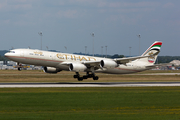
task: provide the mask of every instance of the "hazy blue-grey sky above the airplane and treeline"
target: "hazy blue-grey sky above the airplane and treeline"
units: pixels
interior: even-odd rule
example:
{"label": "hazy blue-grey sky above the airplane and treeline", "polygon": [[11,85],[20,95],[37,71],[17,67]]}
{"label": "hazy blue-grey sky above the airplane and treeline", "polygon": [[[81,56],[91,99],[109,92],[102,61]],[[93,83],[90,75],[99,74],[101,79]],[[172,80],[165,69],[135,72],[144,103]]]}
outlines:
{"label": "hazy blue-grey sky above the airplane and treeline", "polygon": [[[0,50],[180,56],[179,0],[0,0]],[[94,33],[94,37],[92,36]],[[141,38],[138,38],[140,34]],[[94,41],[94,42],[93,42]],[[93,44],[94,43],[94,44]],[[131,47],[131,49],[130,49]]]}

